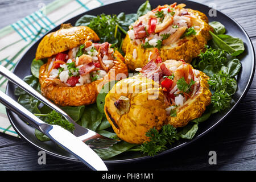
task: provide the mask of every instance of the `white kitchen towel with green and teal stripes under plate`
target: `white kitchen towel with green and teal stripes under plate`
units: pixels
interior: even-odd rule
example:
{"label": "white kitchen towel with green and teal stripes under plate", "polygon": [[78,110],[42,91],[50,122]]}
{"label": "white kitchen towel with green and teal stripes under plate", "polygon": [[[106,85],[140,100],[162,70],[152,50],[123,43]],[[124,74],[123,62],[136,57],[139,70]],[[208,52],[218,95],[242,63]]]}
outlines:
{"label": "white kitchen towel with green and teal stripes under plate", "polygon": [[[42,5],[42,9],[18,22],[2,28],[0,30],[0,64],[12,71],[27,49],[47,31],[73,16],[103,4],[100,0],[56,0],[47,6]],[[6,78],[0,76],[0,92],[5,92],[6,84]],[[18,137],[2,104],[0,104],[0,132]]]}

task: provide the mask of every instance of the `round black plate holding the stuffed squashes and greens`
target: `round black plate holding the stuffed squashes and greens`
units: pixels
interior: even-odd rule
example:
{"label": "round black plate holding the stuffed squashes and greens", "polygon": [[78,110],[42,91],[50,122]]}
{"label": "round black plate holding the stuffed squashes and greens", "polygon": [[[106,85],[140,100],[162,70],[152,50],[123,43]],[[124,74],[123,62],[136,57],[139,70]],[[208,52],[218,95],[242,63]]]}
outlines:
{"label": "round black plate holding the stuffed squashes and greens", "polygon": [[[119,14],[121,12],[124,12],[126,14],[128,13],[136,13],[138,7],[144,2],[138,1],[138,0],[131,0],[131,1],[122,1],[113,3],[110,5],[98,7],[97,9],[87,11],[86,13],[83,13],[81,15],[78,15],[72,19],[67,20],[67,22],[64,23],[72,23],[75,24],[76,20],[78,20],[82,15],[90,14],[90,15],[98,15],[101,13],[105,14]],[[206,14],[208,16],[208,12],[210,8],[205,5],[201,5],[200,3],[191,2],[191,1],[174,1],[177,3],[185,3],[188,8],[199,10]],[[155,0],[150,1],[152,9],[154,9],[158,5],[164,5],[164,4],[170,4],[172,3],[170,0],[164,1],[164,0]],[[199,130],[197,131],[196,136],[192,140],[183,140],[175,143],[175,145],[158,154],[158,156],[171,153],[172,151],[175,151],[179,148],[182,148],[195,140],[199,139],[203,135],[209,133],[210,130],[212,130],[214,127],[218,125],[221,121],[225,119],[227,115],[229,115],[234,107],[237,106],[237,104],[242,100],[242,98],[247,93],[247,90],[250,87],[251,81],[253,80],[254,76],[254,69],[255,69],[255,56],[254,56],[254,49],[253,45],[251,44],[249,36],[246,34],[245,30],[238,24],[235,20],[230,18],[229,16],[221,13],[220,11],[217,11],[216,17],[209,17],[209,22],[212,21],[218,21],[225,25],[227,34],[241,38],[245,44],[245,52],[243,52],[238,59],[241,60],[242,64],[242,70],[240,74],[237,77],[237,85],[238,89],[236,94],[233,96],[233,100],[235,104],[230,108],[228,111],[224,113],[217,113],[211,115],[211,117],[208,119],[208,121],[205,121],[200,124]],[[51,31],[56,31],[59,29],[59,26],[54,28]],[[41,39],[40,39],[41,40]],[[31,75],[30,72],[30,65],[31,61],[35,57],[36,48],[38,47],[38,44],[40,42],[36,42],[20,59],[18,64],[16,64],[16,67],[14,68],[15,75],[19,76],[20,78],[24,78],[27,75]],[[10,82],[7,85],[6,93],[11,96],[12,98],[15,98],[15,100],[18,100],[18,98],[14,95],[14,89],[15,86],[11,84]],[[76,158],[74,158],[72,155],[68,154],[68,152],[65,152],[60,147],[57,147],[55,143],[48,141],[48,142],[40,142],[38,139],[36,139],[34,135],[34,128],[28,126],[26,123],[24,123],[17,115],[15,115],[10,110],[7,110],[7,115],[10,119],[11,125],[13,125],[15,131],[20,135],[20,137],[26,139],[29,143],[31,143],[33,146],[39,148],[39,150],[44,150],[48,154],[51,154],[53,156],[57,156],[62,159],[68,159],[68,160],[74,160],[78,161]],[[121,155],[116,156],[115,158],[111,160],[105,160],[106,163],[126,163],[131,161],[139,161],[143,159],[150,159],[149,156],[143,156],[140,153],[136,152],[127,152]]]}

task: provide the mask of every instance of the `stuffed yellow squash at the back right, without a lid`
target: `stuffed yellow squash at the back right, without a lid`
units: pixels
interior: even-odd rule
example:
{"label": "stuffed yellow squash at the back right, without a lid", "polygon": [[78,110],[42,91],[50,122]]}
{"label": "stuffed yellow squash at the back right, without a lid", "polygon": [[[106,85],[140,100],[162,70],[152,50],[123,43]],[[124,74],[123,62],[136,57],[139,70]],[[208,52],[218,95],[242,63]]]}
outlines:
{"label": "stuffed yellow squash at the back right, without a lid", "polygon": [[212,37],[208,18],[200,11],[185,9],[184,4],[158,6],[138,18],[123,40],[125,63],[131,70],[148,62],[153,47],[162,60],[184,59],[190,63]]}

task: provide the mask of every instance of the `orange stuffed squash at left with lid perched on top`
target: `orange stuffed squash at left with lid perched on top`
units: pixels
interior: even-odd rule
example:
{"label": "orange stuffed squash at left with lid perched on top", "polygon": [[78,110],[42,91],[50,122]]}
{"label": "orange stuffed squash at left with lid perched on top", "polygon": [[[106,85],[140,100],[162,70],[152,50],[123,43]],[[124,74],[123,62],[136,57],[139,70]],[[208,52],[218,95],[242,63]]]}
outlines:
{"label": "orange stuffed squash at left with lid perched on top", "polygon": [[43,96],[60,106],[88,105],[106,82],[128,75],[121,53],[98,40],[89,27],[69,24],[43,38],[36,52],[36,59],[48,58],[39,71]]}

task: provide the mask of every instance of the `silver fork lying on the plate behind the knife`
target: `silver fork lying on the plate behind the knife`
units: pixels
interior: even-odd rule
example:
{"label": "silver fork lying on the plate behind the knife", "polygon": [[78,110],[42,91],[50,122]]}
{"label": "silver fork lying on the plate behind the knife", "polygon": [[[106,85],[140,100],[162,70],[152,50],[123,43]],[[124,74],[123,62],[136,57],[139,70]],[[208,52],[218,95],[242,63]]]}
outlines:
{"label": "silver fork lying on the plate behind the knife", "polygon": [[77,124],[67,113],[65,113],[58,106],[53,104],[47,98],[42,96],[42,94],[36,92],[30,85],[20,79],[18,76],[14,75],[14,73],[10,72],[8,69],[0,65],[0,74],[6,77],[9,81],[13,82],[13,84],[19,86],[21,89],[25,90],[28,94],[34,96],[37,100],[43,102],[43,104],[47,105],[51,109],[55,110],[57,113],[63,115],[65,119],[75,125],[75,130],[73,134],[78,137],[82,142],[85,142],[91,148],[109,148],[113,146],[113,144],[118,143],[120,140],[104,137],[92,130],[86,129],[79,124]]}

